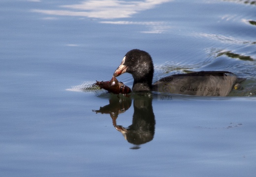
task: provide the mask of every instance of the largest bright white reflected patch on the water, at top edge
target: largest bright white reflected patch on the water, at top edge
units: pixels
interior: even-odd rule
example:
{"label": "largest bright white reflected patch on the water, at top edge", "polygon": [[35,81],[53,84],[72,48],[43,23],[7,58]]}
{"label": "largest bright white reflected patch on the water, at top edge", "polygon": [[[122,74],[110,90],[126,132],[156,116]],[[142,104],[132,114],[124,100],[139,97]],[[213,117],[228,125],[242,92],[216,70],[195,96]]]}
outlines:
{"label": "largest bright white reflected patch on the water, at top edge", "polygon": [[[61,5],[64,10],[32,9],[32,12],[59,16],[80,16],[99,19],[128,18],[140,11],[172,0],[87,0],[79,4]],[[66,10],[68,9],[68,10]]]}

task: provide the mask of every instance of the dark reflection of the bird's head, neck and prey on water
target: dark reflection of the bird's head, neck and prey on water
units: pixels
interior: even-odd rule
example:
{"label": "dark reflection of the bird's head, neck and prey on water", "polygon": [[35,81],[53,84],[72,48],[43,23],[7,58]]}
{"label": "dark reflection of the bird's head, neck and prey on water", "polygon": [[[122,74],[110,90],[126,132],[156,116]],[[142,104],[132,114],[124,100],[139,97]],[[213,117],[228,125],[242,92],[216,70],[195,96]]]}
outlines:
{"label": "dark reflection of the bird's head, neck and prey on water", "polygon": [[117,117],[124,113],[131,105],[131,99],[128,97],[109,99],[109,104],[100,107],[99,110],[93,110],[96,113],[110,114],[114,127],[123,134],[125,139],[134,145],[131,149],[138,149],[140,145],[153,140],[155,134],[155,115],[152,107],[151,95],[135,95],[133,100],[134,114],[132,124],[127,128],[117,125]]}

